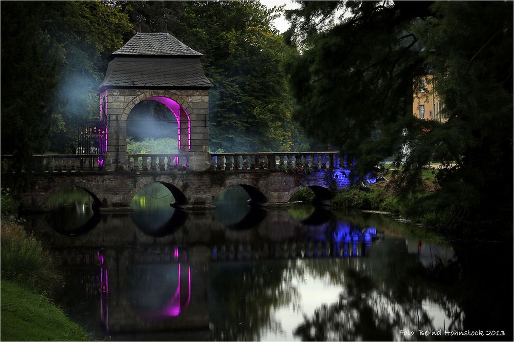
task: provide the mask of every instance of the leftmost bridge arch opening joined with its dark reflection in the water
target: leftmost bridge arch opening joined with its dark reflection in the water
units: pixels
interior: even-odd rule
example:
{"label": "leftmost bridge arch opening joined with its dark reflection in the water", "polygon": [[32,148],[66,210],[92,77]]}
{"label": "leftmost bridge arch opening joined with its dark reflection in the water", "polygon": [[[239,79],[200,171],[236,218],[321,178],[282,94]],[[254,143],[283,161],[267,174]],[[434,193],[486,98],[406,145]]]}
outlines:
{"label": "leftmost bridge arch opening joined with its dark reflection in the water", "polygon": [[56,232],[79,236],[92,230],[101,220],[100,200],[80,186],[61,188],[46,202],[45,220]]}

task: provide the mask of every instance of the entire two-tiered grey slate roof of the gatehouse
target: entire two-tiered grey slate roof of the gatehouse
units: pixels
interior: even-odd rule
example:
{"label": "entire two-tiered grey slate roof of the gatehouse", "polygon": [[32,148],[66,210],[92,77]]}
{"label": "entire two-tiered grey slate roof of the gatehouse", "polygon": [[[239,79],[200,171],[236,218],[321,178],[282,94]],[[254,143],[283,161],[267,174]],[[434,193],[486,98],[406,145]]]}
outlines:
{"label": "entire two-tiered grey slate roof of the gatehouse", "polygon": [[169,33],[138,32],[111,55],[100,88],[209,88],[201,55]]}

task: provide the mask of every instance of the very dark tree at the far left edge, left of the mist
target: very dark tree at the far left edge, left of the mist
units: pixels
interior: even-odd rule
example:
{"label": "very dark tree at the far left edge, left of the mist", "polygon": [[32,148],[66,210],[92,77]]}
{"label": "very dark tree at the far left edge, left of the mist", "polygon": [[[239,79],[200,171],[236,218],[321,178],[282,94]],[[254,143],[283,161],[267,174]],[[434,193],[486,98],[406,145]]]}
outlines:
{"label": "very dark tree at the far left edge, left of the mist", "polygon": [[62,49],[41,29],[40,3],[2,3],[2,153],[20,170],[48,146]]}

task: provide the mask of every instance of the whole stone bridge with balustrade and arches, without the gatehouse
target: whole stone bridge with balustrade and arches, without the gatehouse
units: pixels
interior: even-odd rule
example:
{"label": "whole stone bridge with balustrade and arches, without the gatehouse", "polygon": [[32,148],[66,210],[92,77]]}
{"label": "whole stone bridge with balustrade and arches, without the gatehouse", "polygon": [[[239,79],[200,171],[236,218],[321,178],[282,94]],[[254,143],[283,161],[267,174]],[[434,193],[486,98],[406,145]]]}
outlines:
{"label": "whole stone bridge with balustrade and arches, without the gatehouse", "polygon": [[[2,187],[26,211],[45,211],[48,199],[63,188],[77,186],[93,197],[100,211],[131,211],[132,198],[150,183],[159,182],[173,194],[173,206],[205,210],[225,189],[239,185],[253,204],[286,203],[303,187],[316,200],[328,204],[332,191],[348,186],[348,155],[337,152],[211,154],[210,167],[188,167],[181,155],[128,155],[125,170],[107,171],[102,156],[37,156],[30,173],[10,172],[9,157],[2,157]],[[182,159],[184,161],[182,162]],[[351,159],[351,157],[350,157]]]}

